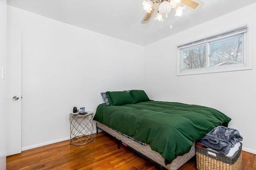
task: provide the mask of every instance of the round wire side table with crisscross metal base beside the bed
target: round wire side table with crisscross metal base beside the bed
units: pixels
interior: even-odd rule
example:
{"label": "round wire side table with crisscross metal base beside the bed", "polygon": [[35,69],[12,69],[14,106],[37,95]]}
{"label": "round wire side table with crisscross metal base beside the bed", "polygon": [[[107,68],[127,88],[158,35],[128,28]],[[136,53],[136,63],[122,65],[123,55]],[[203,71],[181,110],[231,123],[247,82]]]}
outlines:
{"label": "round wire side table with crisscross metal base beside the bed", "polygon": [[93,141],[93,112],[87,111],[85,115],[69,114],[70,144],[85,145]]}

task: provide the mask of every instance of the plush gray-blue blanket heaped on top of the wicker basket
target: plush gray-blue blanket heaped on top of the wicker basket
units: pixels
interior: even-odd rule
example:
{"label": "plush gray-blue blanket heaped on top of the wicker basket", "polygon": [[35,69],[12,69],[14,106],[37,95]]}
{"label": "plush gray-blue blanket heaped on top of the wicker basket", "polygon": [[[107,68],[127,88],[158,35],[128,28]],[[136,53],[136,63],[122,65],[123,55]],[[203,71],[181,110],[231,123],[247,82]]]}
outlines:
{"label": "plush gray-blue blanket heaped on top of the wicker basket", "polygon": [[200,145],[212,148],[221,154],[228,154],[230,148],[242,141],[239,131],[233,128],[218,126],[208,132],[198,141]]}

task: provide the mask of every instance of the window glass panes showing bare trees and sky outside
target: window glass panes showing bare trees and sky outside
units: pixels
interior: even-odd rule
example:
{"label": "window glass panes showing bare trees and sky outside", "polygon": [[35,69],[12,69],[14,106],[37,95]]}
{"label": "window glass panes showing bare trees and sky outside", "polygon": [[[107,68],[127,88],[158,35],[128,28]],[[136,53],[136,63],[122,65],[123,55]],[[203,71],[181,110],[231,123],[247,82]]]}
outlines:
{"label": "window glass panes showing bare trees and sky outside", "polygon": [[[204,68],[206,64],[206,45],[183,50],[183,70]],[[242,35],[209,44],[209,66],[242,63]]]}

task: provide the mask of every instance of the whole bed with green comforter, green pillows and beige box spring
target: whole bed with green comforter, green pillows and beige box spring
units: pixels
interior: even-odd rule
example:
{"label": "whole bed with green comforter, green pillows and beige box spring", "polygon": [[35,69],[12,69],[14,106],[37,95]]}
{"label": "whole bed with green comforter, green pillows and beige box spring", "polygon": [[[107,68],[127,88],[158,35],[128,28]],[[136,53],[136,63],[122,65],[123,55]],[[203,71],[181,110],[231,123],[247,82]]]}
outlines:
{"label": "whole bed with green comforter, green pillows and beige box spring", "polygon": [[197,140],[231,120],[210,107],[152,101],[143,90],[125,93],[106,92],[110,104],[97,107],[97,128],[169,170],[195,155]]}

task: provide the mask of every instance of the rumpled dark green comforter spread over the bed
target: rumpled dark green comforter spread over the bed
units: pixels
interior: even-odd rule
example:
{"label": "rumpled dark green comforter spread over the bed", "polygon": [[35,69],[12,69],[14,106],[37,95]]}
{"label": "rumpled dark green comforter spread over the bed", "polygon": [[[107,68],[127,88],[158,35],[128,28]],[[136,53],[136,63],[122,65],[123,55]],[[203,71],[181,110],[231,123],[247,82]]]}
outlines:
{"label": "rumpled dark green comforter spread over the bed", "polygon": [[139,102],[122,106],[100,104],[94,120],[150,145],[167,162],[183,155],[193,143],[231,120],[216,109],[174,102]]}

